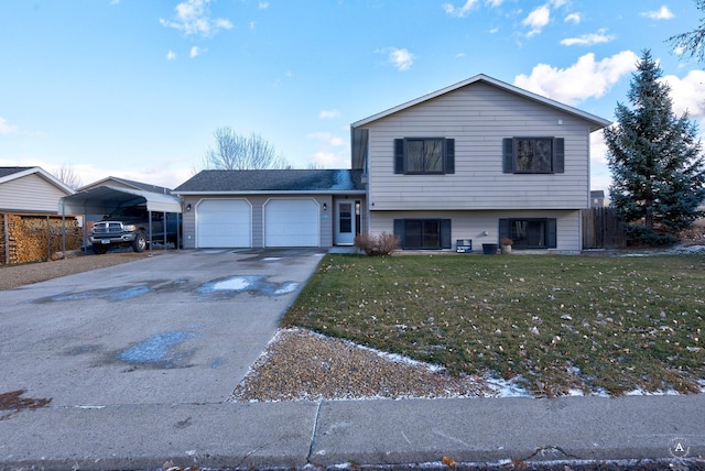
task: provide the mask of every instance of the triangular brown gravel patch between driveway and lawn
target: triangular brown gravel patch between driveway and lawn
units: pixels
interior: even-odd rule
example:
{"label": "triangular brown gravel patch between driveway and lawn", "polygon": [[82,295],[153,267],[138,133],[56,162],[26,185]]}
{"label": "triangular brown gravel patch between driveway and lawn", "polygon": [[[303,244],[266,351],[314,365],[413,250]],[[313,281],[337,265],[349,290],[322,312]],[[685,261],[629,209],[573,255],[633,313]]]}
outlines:
{"label": "triangular brown gravel patch between driveway and lawn", "polygon": [[487,381],[304,329],[282,329],[237,386],[235,401],[488,397]]}

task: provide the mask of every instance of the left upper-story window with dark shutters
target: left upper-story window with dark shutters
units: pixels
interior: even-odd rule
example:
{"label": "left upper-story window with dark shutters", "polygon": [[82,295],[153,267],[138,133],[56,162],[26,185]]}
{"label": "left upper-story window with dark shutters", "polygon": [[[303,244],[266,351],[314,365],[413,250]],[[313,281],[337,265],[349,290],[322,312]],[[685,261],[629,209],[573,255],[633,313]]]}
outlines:
{"label": "left upper-story window with dark shutters", "polygon": [[455,140],[445,138],[395,139],[394,173],[412,175],[455,173]]}

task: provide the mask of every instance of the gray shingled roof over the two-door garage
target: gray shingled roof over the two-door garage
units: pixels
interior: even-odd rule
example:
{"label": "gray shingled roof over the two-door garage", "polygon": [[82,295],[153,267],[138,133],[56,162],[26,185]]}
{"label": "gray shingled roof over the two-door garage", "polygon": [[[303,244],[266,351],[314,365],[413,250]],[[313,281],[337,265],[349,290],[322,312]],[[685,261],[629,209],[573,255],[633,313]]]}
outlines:
{"label": "gray shingled roof over the two-door garage", "polygon": [[174,193],[364,191],[361,176],[350,169],[203,171]]}

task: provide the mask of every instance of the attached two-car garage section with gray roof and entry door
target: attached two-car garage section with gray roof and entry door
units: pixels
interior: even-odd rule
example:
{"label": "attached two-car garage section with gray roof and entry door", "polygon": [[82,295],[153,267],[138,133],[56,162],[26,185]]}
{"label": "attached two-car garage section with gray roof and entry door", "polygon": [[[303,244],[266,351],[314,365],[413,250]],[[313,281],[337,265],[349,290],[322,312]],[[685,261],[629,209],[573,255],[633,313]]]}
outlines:
{"label": "attached two-car garage section with gray roof and entry door", "polygon": [[184,248],[351,245],[362,228],[362,172],[203,171],[183,198]]}

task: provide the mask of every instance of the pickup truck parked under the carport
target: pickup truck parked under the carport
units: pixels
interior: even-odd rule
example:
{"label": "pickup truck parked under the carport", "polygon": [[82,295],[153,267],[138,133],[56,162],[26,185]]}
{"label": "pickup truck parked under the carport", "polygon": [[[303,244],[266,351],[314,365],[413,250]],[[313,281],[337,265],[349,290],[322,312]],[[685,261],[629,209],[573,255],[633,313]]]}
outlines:
{"label": "pickup truck parked under the carport", "polygon": [[[181,215],[167,212],[164,221],[163,212],[152,212],[152,240],[163,242],[166,237],[166,242],[176,245],[180,217]],[[144,252],[150,243],[149,227],[150,219],[145,206],[119,207],[94,222],[89,238],[93,251],[101,254],[111,247],[131,245],[135,252]]]}

